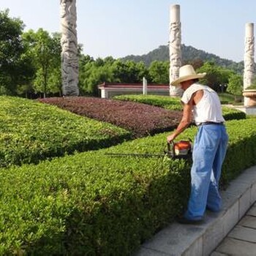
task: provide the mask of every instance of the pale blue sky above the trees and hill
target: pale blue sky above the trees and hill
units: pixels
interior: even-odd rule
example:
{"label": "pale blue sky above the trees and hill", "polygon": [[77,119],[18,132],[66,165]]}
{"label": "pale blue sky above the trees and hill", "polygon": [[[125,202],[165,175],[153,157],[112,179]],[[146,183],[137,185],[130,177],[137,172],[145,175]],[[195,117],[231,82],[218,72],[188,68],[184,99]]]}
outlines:
{"label": "pale blue sky above the trees and hill", "polygon": [[[168,44],[173,4],[180,5],[182,44],[243,61],[255,0],[76,0],[78,43],[94,59],[146,54]],[[59,0],[0,0],[0,10],[7,8],[23,20],[24,31],[61,31]]]}

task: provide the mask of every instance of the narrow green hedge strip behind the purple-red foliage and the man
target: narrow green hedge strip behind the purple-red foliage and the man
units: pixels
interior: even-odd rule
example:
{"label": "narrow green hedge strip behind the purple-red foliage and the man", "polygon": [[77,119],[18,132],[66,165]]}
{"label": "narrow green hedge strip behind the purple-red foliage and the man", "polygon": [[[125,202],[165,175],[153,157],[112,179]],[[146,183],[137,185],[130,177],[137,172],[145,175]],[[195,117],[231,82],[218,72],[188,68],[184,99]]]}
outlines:
{"label": "narrow green hedge strip behind the purple-red foliage and the man", "polygon": [[[148,105],[154,105],[161,108],[166,108],[167,110],[182,110],[181,98],[180,97],[168,97],[159,95],[119,95],[113,97],[113,99],[140,102]],[[222,113],[225,120],[239,120],[245,119],[246,114],[241,110],[236,110],[234,108],[222,107]]]}

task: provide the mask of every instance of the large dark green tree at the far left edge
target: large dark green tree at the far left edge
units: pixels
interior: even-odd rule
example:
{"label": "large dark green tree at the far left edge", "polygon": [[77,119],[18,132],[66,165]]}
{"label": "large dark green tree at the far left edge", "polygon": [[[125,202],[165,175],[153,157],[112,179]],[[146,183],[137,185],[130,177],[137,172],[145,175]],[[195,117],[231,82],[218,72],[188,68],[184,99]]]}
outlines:
{"label": "large dark green tree at the far left edge", "polygon": [[9,10],[0,12],[1,94],[17,94],[18,86],[29,83],[34,75],[31,59],[24,55],[23,29],[23,21],[10,18]]}

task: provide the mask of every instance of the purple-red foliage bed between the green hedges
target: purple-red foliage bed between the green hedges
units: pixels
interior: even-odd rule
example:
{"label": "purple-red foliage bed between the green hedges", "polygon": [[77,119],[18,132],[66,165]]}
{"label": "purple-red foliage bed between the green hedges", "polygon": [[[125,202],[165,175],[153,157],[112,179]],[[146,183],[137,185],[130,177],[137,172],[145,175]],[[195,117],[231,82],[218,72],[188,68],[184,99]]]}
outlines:
{"label": "purple-red foliage bed between the green hedges", "polygon": [[133,132],[136,138],[175,129],[181,111],[165,110],[137,102],[94,97],[53,97],[39,99],[80,116],[115,124]]}

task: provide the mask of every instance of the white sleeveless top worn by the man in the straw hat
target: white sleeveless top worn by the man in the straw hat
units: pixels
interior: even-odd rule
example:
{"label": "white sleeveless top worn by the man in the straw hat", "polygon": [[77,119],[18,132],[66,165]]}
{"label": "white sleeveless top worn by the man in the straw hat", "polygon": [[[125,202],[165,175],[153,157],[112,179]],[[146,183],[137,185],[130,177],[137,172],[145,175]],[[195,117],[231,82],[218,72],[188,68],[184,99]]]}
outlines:
{"label": "white sleeveless top worn by the man in the straw hat", "polygon": [[208,86],[193,83],[192,86],[189,86],[189,88],[184,91],[181,101],[187,104],[192,94],[199,90],[203,90],[203,97],[200,99],[200,102],[193,107],[195,124],[198,125],[206,121],[217,123],[224,122],[225,119],[222,116],[222,106],[218,94]]}

